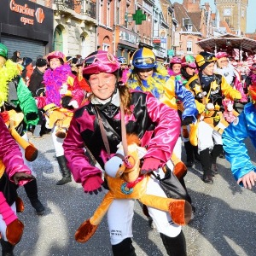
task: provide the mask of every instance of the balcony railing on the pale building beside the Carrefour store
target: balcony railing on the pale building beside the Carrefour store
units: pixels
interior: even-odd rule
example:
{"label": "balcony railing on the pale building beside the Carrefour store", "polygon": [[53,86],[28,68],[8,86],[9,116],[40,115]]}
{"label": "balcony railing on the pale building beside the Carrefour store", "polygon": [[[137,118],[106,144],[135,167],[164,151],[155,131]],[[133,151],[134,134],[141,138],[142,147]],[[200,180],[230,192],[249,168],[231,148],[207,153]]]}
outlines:
{"label": "balcony railing on the pale building beside the Carrefour store", "polygon": [[96,2],[91,0],[54,0],[58,10],[73,9],[79,15],[96,19]]}

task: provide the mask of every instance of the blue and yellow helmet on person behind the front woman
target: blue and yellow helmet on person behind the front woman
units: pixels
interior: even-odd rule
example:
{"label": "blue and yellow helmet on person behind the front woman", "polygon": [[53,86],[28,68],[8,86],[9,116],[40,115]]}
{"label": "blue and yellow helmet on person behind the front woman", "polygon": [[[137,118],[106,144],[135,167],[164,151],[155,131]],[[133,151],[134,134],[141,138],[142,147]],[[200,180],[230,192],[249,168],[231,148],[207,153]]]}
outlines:
{"label": "blue and yellow helmet on person behind the front woman", "polygon": [[137,49],[132,56],[132,65],[137,68],[156,67],[155,55],[151,49]]}

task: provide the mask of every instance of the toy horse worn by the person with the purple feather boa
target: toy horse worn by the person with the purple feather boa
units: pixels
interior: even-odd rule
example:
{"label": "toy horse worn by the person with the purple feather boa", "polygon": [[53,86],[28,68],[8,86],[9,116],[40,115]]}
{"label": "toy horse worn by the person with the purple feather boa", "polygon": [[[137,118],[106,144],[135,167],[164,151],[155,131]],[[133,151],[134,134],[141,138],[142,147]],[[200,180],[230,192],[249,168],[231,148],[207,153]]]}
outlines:
{"label": "toy horse worn by the person with the purple feather boa", "polygon": [[67,108],[59,108],[54,103],[50,103],[44,107],[46,128],[52,129],[57,126],[56,137],[65,138],[67,129],[73,117],[73,112]]}

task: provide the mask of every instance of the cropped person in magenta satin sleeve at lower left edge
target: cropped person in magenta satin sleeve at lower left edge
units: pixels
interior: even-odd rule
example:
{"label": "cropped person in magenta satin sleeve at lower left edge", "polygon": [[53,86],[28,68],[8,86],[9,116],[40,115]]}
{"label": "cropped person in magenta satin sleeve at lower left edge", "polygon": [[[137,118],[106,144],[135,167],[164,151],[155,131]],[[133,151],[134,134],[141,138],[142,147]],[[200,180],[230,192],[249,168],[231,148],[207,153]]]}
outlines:
{"label": "cropped person in magenta satin sleeve at lower left edge", "polygon": [[33,180],[31,170],[24,165],[18,144],[11,137],[0,114],[0,237],[2,255],[14,255],[24,225],[16,215],[18,186]]}

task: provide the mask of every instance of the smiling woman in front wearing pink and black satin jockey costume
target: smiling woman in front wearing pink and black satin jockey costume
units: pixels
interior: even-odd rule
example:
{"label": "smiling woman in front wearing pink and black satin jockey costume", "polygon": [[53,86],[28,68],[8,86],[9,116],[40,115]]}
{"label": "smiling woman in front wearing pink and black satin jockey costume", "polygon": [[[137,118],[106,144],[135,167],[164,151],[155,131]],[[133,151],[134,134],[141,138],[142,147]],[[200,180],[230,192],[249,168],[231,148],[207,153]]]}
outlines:
{"label": "smiling woman in front wearing pink and black satin jockey costume", "polygon": [[[90,166],[89,159],[84,155],[84,145],[104,169],[104,163],[116,154],[117,146],[124,139],[121,135],[122,123],[126,133],[136,134],[142,147],[148,150],[143,157],[143,175],[155,172],[164,176],[161,167],[170,160],[180,134],[177,110],[160,103],[149,92],[119,86],[119,68],[117,58],[106,51],[98,50],[85,58],[84,78],[90,84],[92,95],[74,113],[63,144],[75,181],[82,183],[84,192],[90,195],[102,190],[102,171]],[[120,109],[124,109],[123,114]],[[121,122],[121,117],[125,121]],[[103,134],[107,137],[109,150],[105,147]],[[166,197],[153,175],[147,183],[147,193]],[[136,255],[131,241],[134,203],[131,199],[113,200],[108,208],[108,230],[114,256]],[[181,226],[173,224],[167,212],[153,207],[148,207],[148,212],[154,219],[168,255],[187,255]]]}

